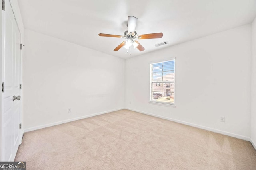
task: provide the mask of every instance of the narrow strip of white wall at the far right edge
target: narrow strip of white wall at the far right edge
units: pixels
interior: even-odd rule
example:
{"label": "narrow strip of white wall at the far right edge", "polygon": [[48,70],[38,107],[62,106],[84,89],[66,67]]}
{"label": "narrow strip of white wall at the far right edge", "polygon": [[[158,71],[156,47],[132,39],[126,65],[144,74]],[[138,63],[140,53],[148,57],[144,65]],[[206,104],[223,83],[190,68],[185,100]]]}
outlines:
{"label": "narrow strip of white wall at the far right edge", "polygon": [[256,18],[252,23],[252,122],[251,143],[256,149]]}

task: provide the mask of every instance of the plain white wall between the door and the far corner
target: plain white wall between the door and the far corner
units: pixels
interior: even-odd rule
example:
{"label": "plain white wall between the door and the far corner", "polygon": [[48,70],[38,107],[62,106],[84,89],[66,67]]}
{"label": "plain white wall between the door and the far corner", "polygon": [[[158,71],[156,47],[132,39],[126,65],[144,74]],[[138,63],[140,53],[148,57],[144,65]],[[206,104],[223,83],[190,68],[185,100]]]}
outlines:
{"label": "plain white wall between the door and the far corner", "polygon": [[124,59],[28,29],[25,45],[25,131],[124,108]]}

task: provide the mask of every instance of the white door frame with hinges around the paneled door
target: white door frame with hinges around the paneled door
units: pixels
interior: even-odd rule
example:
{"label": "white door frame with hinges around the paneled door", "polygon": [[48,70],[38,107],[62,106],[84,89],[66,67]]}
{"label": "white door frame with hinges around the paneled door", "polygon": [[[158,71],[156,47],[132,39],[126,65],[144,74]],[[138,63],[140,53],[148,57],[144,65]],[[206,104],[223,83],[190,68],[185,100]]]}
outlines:
{"label": "white door frame with hinges around the paneled door", "polygon": [[[1,0],[2,2],[3,0]],[[5,0],[5,1],[9,1],[9,0]],[[1,3],[2,4],[2,3]],[[20,36],[21,36],[21,42],[22,44],[24,44],[24,25],[23,25],[23,22],[22,22],[22,17],[21,17],[21,14],[20,14],[20,8],[19,8],[19,4],[18,4],[18,0],[10,0],[10,4],[12,6],[12,10],[13,10],[13,13],[14,13],[14,16],[15,16],[15,19],[16,19],[16,22],[17,22],[17,25],[18,25],[18,29],[20,30]],[[2,20],[2,17],[4,16],[4,11],[1,10],[0,12],[0,21],[1,21],[1,27],[0,27],[0,37],[2,39],[2,35],[4,35],[4,32],[3,32],[3,27],[4,27],[4,24],[3,23],[3,20]],[[1,53],[0,53],[0,57],[1,57],[1,60],[0,60],[0,79],[1,79],[1,84],[3,82],[2,80],[2,56],[4,54],[4,47],[3,47],[3,39],[2,41],[0,41],[0,49],[1,49]],[[23,85],[23,56],[24,56],[24,49],[23,48],[21,50],[21,53],[20,53],[20,84]],[[24,93],[23,93],[23,87],[21,88],[20,90],[20,96],[22,96],[22,98],[24,98]],[[20,129],[20,144],[22,143],[22,137],[23,137],[23,134],[24,134],[24,123],[23,123],[23,100],[21,99],[20,100],[20,123],[22,124],[22,128]],[[1,85],[1,92],[0,92],[0,160],[2,161],[2,85]]]}

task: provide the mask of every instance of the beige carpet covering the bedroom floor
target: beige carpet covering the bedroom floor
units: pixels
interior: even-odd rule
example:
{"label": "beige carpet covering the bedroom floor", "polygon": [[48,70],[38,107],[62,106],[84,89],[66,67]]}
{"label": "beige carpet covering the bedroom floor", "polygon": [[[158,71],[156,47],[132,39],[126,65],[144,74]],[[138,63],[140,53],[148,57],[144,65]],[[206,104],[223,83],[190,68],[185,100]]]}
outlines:
{"label": "beige carpet covering the bedroom floor", "polygon": [[120,110],[24,134],[26,170],[255,170],[250,142]]}

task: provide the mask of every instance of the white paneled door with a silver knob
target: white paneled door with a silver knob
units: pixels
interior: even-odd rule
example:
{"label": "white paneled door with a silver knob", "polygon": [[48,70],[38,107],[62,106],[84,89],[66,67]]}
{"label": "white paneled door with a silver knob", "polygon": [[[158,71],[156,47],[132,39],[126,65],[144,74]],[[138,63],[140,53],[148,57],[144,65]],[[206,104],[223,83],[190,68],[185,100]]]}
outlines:
{"label": "white paneled door with a silver knob", "polygon": [[20,31],[9,0],[2,23],[2,161],[14,161],[20,144],[20,100],[14,97],[20,96]]}

